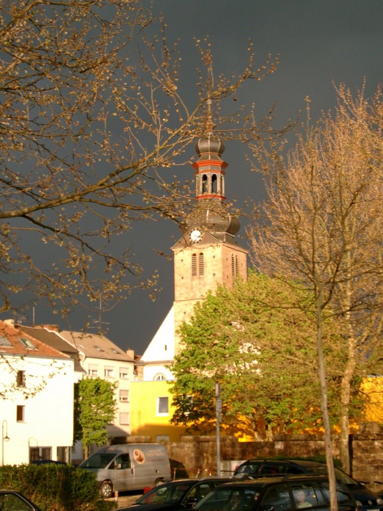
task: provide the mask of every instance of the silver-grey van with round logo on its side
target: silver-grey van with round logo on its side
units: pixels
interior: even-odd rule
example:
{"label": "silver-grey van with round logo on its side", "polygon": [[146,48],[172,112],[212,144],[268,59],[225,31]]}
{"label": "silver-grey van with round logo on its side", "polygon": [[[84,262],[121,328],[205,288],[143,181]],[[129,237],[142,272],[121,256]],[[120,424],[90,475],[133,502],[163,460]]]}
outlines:
{"label": "silver-grey van with round logo on its side", "polygon": [[143,490],[171,478],[168,454],[160,444],[102,447],[79,467],[97,474],[100,493],[105,498],[115,491]]}

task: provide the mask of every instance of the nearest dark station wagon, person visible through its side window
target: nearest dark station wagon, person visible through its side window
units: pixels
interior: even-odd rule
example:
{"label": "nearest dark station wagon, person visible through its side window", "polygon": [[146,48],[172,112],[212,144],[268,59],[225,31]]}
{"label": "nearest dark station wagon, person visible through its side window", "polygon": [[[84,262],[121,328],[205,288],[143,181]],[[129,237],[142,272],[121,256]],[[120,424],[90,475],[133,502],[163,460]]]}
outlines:
{"label": "nearest dark station wagon, person visible through its side window", "polygon": [[[336,487],[339,511],[357,511],[347,486]],[[284,475],[242,480],[215,487],[193,511],[290,511],[304,507],[330,511],[326,476]]]}

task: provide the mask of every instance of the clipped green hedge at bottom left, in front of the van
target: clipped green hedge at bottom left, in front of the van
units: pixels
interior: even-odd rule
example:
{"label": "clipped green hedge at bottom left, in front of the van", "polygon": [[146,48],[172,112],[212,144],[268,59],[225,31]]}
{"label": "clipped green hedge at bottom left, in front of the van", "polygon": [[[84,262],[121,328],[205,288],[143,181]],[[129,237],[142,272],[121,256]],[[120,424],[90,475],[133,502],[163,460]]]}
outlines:
{"label": "clipped green hedge at bottom left, in front of the van", "polygon": [[108,511],[114,506],[101,498],[93,472],[72,465],[6,465],[0,467],[0,488],[22,493],[42,511]]}

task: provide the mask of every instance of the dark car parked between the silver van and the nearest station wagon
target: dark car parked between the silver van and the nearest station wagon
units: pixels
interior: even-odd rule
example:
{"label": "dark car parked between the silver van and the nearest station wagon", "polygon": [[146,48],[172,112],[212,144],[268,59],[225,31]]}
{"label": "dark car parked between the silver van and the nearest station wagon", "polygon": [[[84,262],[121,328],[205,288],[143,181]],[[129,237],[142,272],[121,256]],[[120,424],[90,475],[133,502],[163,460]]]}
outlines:
{"label": "dark car parked between the silver van and the nearest station wagon", "polygon": [[155,486],[134,504],[119,511],[173,511],[187,509],[205,497],[217,485],[231,481],[227,477],[203,479],[176,479]]}

